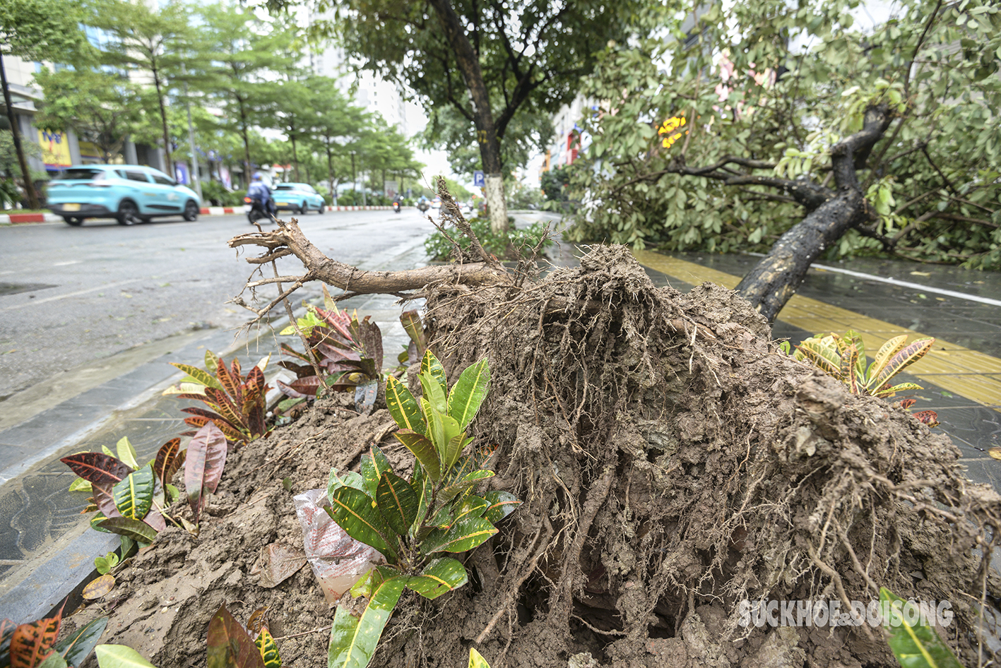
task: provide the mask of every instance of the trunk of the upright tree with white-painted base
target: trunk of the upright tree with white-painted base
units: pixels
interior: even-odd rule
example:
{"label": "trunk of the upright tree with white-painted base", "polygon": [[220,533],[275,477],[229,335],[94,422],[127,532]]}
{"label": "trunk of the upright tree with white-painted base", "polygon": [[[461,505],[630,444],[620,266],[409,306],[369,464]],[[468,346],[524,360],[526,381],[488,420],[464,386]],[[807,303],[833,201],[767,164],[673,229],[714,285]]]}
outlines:
{"label": "trunk of the upright tree with white-painted base", "polygon": [[455,52],[462,79],[469,89],[476,143],[479,145],[479,158],[486,175],[486,208],[490,216],[490,230],[504,232],[508,229],[508,207],[505,204],[504,176],[500,172],[500,140],[497,139],[490,98],[479,67],[479,56],[465,36],[462,23],[448,0],[430,0],[430,5],[441,21],[448,42]]}

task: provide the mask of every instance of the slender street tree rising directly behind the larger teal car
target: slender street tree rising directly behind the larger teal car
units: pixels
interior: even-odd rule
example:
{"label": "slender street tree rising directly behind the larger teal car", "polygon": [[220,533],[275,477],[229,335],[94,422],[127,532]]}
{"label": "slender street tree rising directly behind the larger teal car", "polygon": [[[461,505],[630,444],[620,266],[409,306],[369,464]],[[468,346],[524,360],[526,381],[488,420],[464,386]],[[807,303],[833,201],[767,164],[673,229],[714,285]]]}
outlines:
{"label": "slender street tree rising directly behind the larger teal car", "polygon": [[143,2],[98,0],[86,21],[111,38],[102,49],[102,62],[149,77],[159,111],[166,171],[172,173],[167,98],[171,85],[181,77],[186,45],[192,43],[194,35],[184,5],[167,2],[153,8]]}

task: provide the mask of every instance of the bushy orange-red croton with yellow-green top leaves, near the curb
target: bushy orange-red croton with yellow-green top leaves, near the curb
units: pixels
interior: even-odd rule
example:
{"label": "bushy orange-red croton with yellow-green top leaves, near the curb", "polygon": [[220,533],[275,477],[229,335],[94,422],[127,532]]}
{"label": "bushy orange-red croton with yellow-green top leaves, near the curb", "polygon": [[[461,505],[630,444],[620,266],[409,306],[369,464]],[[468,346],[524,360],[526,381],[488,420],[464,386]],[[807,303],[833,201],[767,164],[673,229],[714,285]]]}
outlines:
{"label": "bushy orange-red croton with yellow-green top leaves, near the curb", "polygon": [[[163,395],[204,402],[211,410],[181,409],[191,415],[184,418],[185,423],[197,429],[214,422],[230,443],[249,443],[270,431],[264,422],[267,391],[271,389],[264,383],[268,357],[260,360],[246,376],[241,375],[237,358],[234,357],[226,368],[226,363],[211,351],[205,352],[205,368],[208,371],[171,362],[187,376],[177,385],[164,390]],[[194,436],[194,430],[185,431],[181,436]]]}

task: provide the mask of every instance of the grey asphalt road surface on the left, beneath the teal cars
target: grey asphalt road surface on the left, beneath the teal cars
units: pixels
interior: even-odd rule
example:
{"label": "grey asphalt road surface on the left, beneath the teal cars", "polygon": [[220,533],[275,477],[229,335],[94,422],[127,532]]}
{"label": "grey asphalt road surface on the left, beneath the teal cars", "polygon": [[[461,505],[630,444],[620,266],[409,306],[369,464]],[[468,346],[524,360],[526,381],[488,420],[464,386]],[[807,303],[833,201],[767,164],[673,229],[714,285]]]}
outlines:
{"label": "grey asphalt road surface on the left, beneath the teal cars", "polygon": [[[299,224],[329,257],[362,266],[433,229],[413,209],[308,213]],[[243,256],[257,253],[226,242],[253,229],[240,215],[0,227],[0,411],[4,399],[82,364],[193,329],[238,327],[250,313],[226,302],[253,269]],[[296,265],[283,258],[278,270],[301,273]]]}

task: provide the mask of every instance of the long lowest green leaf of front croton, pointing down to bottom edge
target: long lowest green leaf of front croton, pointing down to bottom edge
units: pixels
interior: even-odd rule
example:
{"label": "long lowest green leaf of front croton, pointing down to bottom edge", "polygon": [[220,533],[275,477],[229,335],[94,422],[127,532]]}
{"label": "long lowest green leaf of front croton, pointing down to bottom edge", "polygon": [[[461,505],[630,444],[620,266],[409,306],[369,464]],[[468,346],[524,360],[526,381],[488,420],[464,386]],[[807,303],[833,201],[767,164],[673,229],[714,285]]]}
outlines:
{"label": "long lowest green leaf of front croton, pointing down to bottom edge", "polygon": [[346,606],[337,608],[330,629],[327,668],[365,668],[368,665],[406,581],[407,578],[400,575],[375,585],[361,617],[352,615]]}

